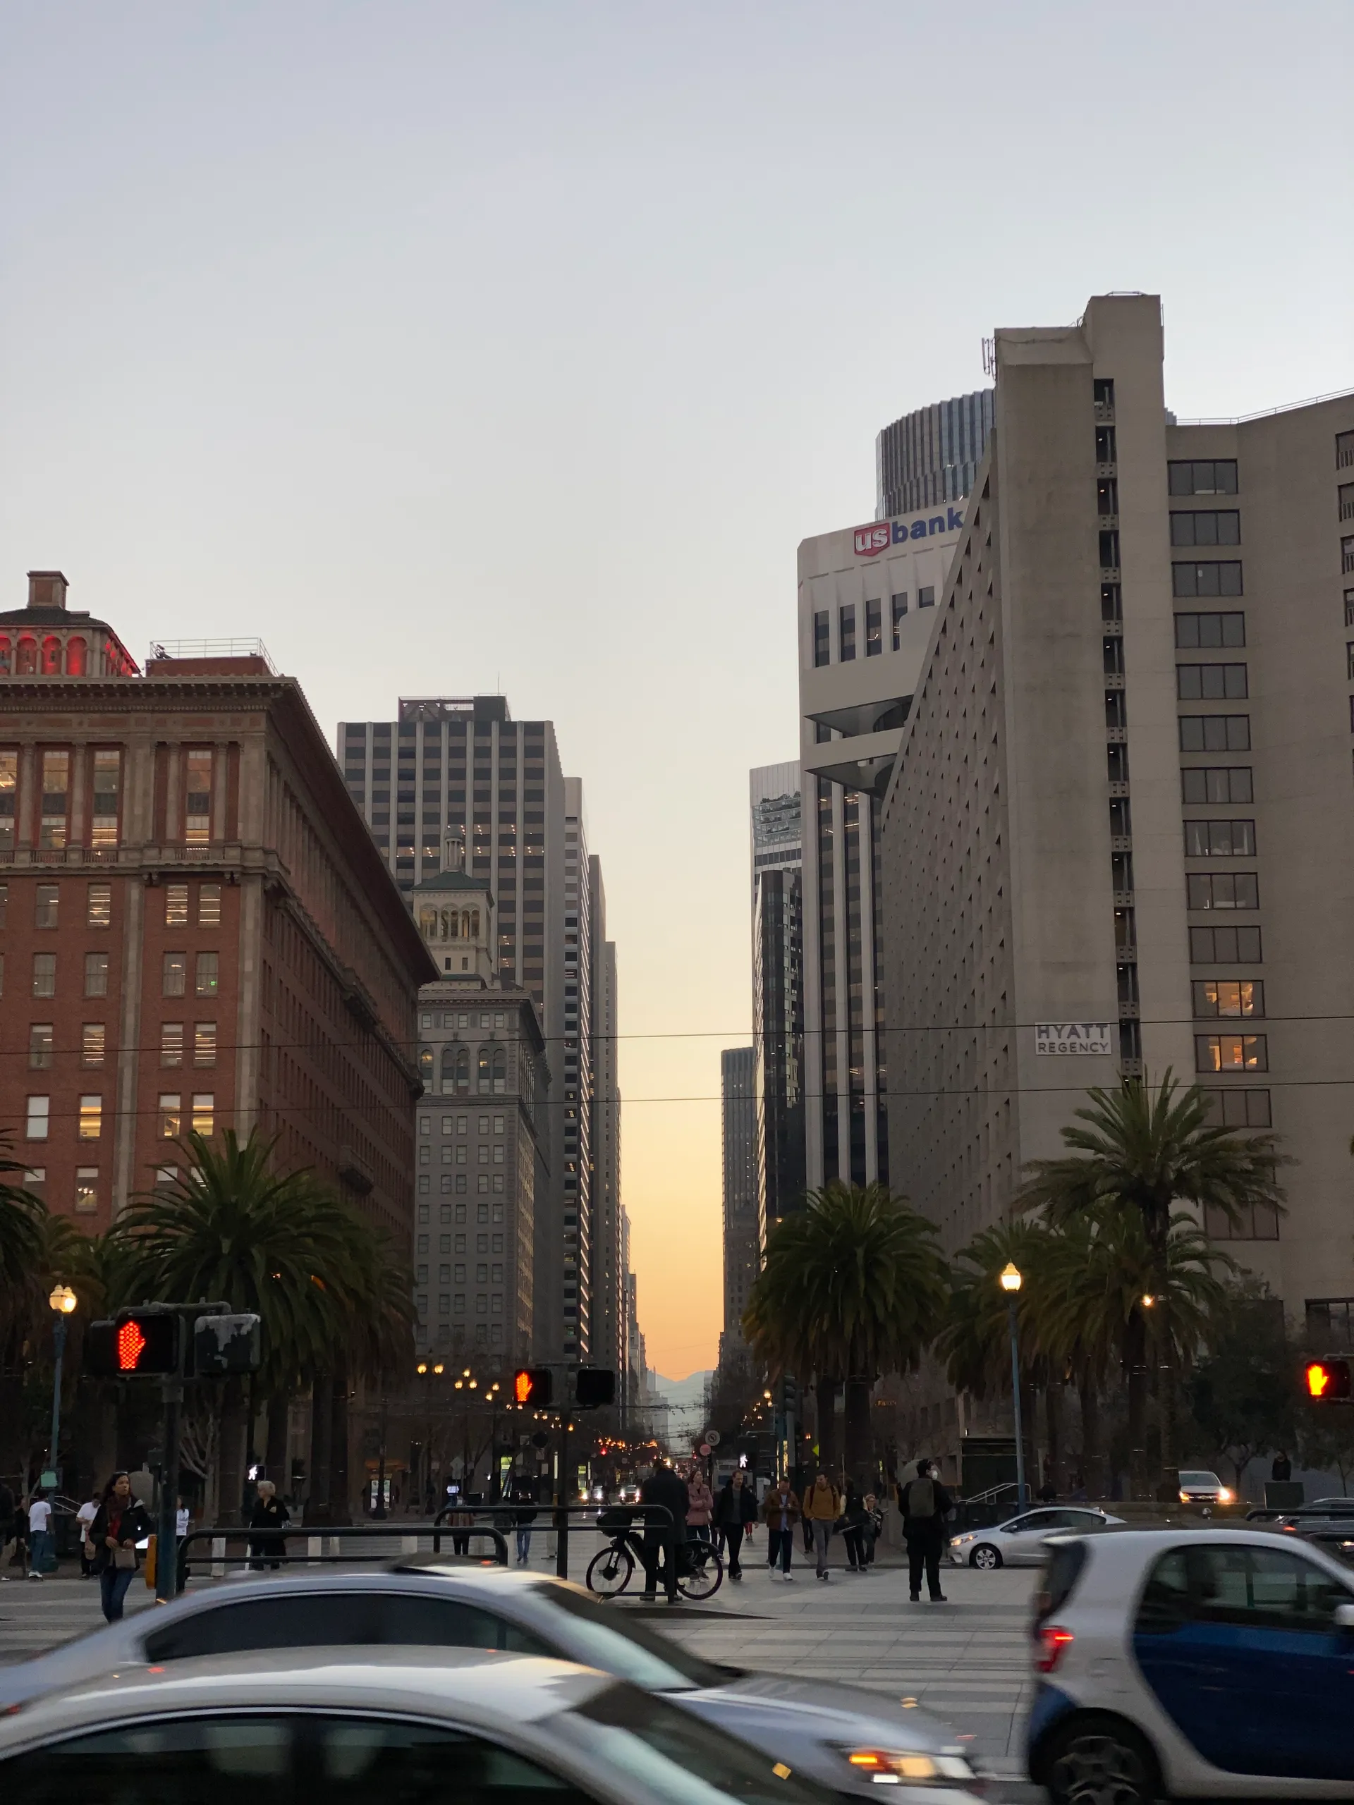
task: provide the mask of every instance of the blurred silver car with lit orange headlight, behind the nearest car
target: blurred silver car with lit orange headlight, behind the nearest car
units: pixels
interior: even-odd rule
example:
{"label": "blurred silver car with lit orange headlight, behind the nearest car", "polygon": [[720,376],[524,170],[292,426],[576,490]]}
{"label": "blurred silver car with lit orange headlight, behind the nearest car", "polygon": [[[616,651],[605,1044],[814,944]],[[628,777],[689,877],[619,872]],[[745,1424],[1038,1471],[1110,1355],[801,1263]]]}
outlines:
{"label": "blurred silver car with lit orange headlight, behind the nearest car", "polygon": [[962,1791],[973,1782],[950,1727],[886,1693],[720,1668],[565,1579],[437,1556],[188,1592],[22,1668],[0,1668],[0,1711],[130,1664],[343,1644],[500,1650],[599,1668],[834,1792],[877,1796],[877,1785],[903,1782]]}

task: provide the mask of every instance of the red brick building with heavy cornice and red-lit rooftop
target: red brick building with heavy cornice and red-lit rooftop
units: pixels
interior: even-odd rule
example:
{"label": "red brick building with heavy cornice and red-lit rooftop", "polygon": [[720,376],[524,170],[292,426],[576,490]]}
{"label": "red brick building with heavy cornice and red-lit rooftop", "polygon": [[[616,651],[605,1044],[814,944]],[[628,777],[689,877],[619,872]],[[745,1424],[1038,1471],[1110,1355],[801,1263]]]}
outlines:
{"label": "red brick building with heavy cornice and red-lit rooftop", "polygon": [[280,1135],[410,1245],[435,967],[262,648],[153,655],[32,572],[0,614],[0,1130],[107,1227],[188,1128]]}

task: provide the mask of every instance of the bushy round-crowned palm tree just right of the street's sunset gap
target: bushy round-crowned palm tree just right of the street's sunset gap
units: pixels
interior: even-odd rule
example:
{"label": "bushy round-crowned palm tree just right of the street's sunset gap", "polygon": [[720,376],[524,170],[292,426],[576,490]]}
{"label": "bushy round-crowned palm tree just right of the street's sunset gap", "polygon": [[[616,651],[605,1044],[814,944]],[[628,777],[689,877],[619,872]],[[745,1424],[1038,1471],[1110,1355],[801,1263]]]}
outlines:
{"label": "bushy round-crowned palm tree just right of the street's sunset gap", "polygon": [[933,1224],[883,1184],[832,1180],[773,1233],[744,1334],[771,1372],[845,1381],[847,1471],[863,1480],[874,1381],[917,1363],[944,1303]]}

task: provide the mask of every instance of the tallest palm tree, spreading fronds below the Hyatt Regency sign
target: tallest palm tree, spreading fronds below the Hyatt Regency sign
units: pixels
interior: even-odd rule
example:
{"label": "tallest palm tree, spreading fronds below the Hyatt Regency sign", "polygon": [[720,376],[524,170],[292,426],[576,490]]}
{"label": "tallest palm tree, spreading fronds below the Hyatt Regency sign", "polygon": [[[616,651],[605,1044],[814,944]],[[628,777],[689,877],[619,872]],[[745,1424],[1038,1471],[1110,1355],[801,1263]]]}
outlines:
{"label": "tallest palm tree, spreading fronds below the Hyatt Regency sign", "polygon": [[[1179,1096],[1177,1096],[1179,1092]],[[1199,1085],[1181,1090],[1170,1067],[1152,1090],[1143,1078],[1125,1078],[1118,1090],[1096,1087],[1087,1092],[1089,1106],[1074,1112],[1078,1123],[1062,1130],[1069,1152],[1062,1159],[1040,1159],[1029,1166],[1029,1180],[1018,1195],[1024,1209],[1043,1209],[1051,1224],[1096,1213],[1103,1206],[1128,1211],[1141,1224],[1143,1273],[1164,1282],[1168,1242],[1179,1220],[1177,1204],[1192,1204],[1199,1213],[1213,1208],[1229,1222],[1238,1222],[1253,1206],[1284,1208],[1276,1170],[1287,1164],[1273,1134],[1237,1135],[1208,1121],[1208,1097]],[[1148,1339],[1155,1296],[1143,1291],[1128,1309],[1125,1323],[1125,1365],[1128,1368],[1128,1442],[1134,1487],[1145,1486],[1143,1428],[1146,1417]],[[1163,1464],[1173,1462],[1173,1386],[1177,1341],[1163,1343],[1168,1375],[1163,1413]]]}

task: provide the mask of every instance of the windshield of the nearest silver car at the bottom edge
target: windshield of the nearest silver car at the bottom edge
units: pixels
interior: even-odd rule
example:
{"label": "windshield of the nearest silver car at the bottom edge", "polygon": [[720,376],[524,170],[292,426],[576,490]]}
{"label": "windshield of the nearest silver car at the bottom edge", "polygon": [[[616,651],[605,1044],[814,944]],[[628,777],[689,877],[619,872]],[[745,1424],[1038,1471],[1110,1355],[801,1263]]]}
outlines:
{"label": "windshield of the nearest silver car at the bottom edge", "polygon": [[681,1706],[608,1686],[549,1720],[599,1769],[663,1805],[834,1805],[836,1794]]}

